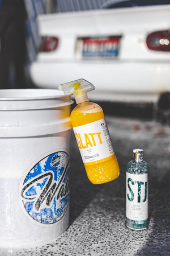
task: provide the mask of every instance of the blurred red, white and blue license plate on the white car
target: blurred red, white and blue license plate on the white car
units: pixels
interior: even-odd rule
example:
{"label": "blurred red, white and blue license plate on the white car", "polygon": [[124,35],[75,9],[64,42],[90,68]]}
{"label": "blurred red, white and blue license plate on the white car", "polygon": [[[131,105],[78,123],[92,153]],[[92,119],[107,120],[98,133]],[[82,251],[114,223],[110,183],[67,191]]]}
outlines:
{"label": "blurred red, white and blue license plate on the white car", "polygon": [[82,58],[115,58],[120,49],[121,36],[78,38],[76,53]]}

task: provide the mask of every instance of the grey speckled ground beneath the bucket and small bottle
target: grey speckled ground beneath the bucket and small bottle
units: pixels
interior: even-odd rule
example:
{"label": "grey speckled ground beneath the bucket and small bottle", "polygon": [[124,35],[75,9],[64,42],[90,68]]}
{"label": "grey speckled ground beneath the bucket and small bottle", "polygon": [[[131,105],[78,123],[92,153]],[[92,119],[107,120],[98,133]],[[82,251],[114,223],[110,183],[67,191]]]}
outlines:
{"label": "grey speckled ground beneath the bucket and small bottle", "polygon": [[[72,134],[69,229],[56,241],[1,248],[0,255],[170,255],[170,127],[135,119],[106,119],[120,164],[118,179],[91,184]],[[150,224],[146,230],[125,226],[125,168],[137,147],[143,148],[150,166]]]}

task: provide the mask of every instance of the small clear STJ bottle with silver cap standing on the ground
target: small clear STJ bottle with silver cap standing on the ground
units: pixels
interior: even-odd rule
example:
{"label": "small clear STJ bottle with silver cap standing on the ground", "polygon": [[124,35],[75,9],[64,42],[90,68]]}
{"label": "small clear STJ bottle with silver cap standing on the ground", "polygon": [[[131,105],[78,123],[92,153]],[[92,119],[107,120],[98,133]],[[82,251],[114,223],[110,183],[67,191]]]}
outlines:
{"label": "small clear STJ bottle with silver cap standing on the ground", "polygon": [[133,150],[133,160],[126,166],[126,226],[145,229],[148,226],[148,164],[143,150]]}

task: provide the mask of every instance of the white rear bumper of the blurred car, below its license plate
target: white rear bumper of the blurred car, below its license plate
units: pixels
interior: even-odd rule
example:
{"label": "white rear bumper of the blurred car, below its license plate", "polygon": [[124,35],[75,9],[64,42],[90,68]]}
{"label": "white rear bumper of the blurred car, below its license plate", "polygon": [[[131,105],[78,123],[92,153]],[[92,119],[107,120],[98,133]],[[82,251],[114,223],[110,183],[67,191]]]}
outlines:
{"label": "white rear bumper of the blurred car, below its license plate", "polygon": [[31,65],[31,77],[41,88],[57,88],[59,84],[83,78],[95,85],[95,94],[103,92],[108,95],[110,93],[156,95],[170,91],[169,62],[43,63],[36,61]]}

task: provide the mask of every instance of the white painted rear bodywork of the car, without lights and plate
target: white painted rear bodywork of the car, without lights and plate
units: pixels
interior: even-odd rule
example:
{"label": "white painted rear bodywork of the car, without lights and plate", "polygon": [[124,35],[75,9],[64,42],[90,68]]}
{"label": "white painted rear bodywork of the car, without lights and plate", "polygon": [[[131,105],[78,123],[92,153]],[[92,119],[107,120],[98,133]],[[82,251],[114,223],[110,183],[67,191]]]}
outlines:
{"label": "white painted rear bodywork of the car, without lights and plate", "polygon": [[[170,52],[147,48],[147,35],[170,28],[170,5],[145,6],[40,15],[41,36],[58,37],[53,52],[40,52],[31,65],[37,86],[84,78],[101,92],[155,93],[170,90]],[[113,59],[83,58],[77,54],[81,37],[122,36]]]}

